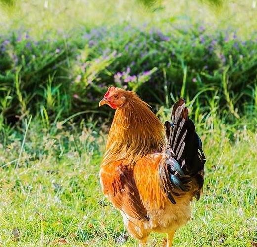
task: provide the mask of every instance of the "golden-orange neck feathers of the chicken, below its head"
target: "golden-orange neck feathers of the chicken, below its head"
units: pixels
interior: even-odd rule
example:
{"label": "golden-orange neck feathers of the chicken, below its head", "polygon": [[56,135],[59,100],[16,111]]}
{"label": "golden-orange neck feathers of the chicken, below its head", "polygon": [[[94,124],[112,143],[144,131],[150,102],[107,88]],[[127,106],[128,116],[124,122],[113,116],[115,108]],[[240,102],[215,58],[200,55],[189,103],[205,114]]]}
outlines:
{"label": "golden-orange neck feathers of the chicken, below its head", "polygon": [[118,160],[132,166],[147,154],[161,152],[165,144],[161,121],[147,103],[126,91],[126,101],[114,115],[102,166]]}

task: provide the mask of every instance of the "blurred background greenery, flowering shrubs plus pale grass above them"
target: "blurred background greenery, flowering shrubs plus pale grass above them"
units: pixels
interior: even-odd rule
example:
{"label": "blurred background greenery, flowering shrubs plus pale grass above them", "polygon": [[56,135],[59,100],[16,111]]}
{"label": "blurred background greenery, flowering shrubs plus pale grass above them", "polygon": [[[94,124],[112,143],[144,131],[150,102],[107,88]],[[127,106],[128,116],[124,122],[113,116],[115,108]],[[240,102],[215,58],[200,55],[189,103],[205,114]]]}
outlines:
{"label": "blurred background greenery, flowering shrubs plus pale grass above them", "polygon": [[210,109],[237,118],[252,111],[256,9],[236,2],[216,13],[198,0],[157,1],[150,11],[137,0],[0,8],[0,129],[28,114],[46,126],[78,112],[103,114],[98,101],[112,84],[152,106],[183,96],[199,108],[196,119]]}

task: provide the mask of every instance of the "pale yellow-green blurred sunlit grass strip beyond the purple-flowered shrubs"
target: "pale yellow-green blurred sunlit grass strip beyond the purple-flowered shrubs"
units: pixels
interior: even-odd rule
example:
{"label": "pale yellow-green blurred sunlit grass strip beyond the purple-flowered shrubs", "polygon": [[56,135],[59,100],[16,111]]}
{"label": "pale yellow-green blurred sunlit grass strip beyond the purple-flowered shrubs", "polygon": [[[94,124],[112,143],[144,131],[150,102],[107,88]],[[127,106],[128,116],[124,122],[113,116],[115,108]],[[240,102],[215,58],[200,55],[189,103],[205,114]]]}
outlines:
{"label": "pale yellow-green blurred sunlit grass strip beyond the purple-flowered shrubs", "polygon": [[[35,37],[52,31],[67,33],[78,26],[89,29],[96,26],[113,26],[129,23],[133,26],[151,23],[161,30],[173,23],[190,25],[201,21],[208,28],[238,29],[243,38],[256,30],[255,1],[224,1],[223,7],[210,7],[200,0],[156,1],[145,7],[138,0],[64,0],[64,1],[16,1],[15,7],[0,7],[1,30],[8,32],[22,28]],[[242,25],[244,23],[244,25]]]}

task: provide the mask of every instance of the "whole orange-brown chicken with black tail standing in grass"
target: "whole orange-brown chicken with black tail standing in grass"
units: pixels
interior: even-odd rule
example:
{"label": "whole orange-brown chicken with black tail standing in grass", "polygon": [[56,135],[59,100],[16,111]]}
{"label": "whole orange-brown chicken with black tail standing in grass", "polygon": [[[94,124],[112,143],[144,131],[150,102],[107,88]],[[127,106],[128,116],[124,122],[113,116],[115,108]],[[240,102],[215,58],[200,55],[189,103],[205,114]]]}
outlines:
{"label": "whole orange-brown chicken with black tail standing in grass", "polygon": [[129,234],[145,246],[151,232],[175,231],[199,199],[205,156],[181,98],[163,125],[136,93],[108,88],[99,106],[116,109],[100,168],[104,195],[120,210]]}

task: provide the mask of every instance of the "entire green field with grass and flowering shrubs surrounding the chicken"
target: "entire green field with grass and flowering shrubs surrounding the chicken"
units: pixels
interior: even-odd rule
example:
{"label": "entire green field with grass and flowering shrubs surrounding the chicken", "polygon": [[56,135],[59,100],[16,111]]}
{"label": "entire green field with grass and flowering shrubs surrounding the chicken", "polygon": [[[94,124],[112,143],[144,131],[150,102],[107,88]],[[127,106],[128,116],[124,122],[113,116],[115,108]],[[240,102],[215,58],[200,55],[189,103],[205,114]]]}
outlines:
{"label": "entire green field with grass and flowering shrubs surrounding the chicken", "polygon": [[256,8],[118,2],[0,7],[0,246],[137,245],[99,182],[108,85],[136,91],[163,122],[187,101],[207,163],[174,246],[256,246]]}

